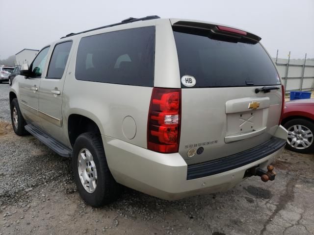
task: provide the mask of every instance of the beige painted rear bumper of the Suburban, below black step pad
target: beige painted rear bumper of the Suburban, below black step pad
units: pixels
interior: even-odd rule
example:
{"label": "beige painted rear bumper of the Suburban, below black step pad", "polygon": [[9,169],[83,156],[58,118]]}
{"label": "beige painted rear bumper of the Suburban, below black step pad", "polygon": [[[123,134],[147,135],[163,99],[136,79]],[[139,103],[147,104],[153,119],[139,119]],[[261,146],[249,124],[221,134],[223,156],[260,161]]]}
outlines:
{"label": "beige painted rear bumper of the Suburban, below black step pad", "polygon": [[232,188],[243,180],[247,169],[257,165],[266,168],[282,152],[285,144],[282,140],[283,144],[271,153],[248,164],[188,180],[190,166],[179,153],[162,154],[114,138],[102,138],[110,171],[118,183],[166,200]]}

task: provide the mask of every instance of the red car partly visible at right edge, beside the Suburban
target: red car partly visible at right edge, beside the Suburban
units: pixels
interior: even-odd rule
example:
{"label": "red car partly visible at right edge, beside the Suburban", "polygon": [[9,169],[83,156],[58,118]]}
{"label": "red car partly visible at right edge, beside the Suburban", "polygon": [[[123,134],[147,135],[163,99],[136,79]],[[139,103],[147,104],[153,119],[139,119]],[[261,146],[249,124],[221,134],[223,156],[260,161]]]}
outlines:
{"label": "red car partly visible at right edge, beside the Suburban", "polygon": [[281,124],[288,130],[286,148],[298,153],[314,152],[314,99],[286,102]]}

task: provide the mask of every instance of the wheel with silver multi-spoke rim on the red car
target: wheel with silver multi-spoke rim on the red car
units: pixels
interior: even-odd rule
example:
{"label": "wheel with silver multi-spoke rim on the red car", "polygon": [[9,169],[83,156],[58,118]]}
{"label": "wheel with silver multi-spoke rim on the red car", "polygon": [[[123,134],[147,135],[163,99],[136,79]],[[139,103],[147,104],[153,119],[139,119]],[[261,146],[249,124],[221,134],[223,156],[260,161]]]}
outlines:
{"label": "wheel with silver multi-spoke rim on the red car", "polygon": [[284,124],[288,130],[286,148],[298,153],[314,152],[314,123],[303,118],[295,118]]}

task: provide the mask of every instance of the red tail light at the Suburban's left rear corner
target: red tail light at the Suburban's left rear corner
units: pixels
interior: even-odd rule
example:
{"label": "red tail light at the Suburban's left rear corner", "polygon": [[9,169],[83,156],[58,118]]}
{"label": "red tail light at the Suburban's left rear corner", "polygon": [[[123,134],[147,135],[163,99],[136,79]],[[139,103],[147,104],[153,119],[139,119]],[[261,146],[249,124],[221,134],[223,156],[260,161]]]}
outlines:
{"label": "red tail light at the Suburban's left rear corner", "polygon": [[179,151],[181,89],[153,88],[147,123],[147,148],[160,153]]}

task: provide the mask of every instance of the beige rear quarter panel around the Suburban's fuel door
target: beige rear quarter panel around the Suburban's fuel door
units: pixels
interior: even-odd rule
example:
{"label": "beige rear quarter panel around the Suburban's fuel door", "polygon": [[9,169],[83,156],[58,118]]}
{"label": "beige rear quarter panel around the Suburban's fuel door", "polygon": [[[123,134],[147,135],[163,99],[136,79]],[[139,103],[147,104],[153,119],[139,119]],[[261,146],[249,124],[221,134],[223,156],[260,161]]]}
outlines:
{"label": "beige rear quarter panel around the Suburban's fuel door", "polygon": [[[75,65],[79,38],[75,41],[62,96],[63,132],[67,137],[65,144],[71,147],[68,118],[78,114],[92,119],[102,135],[146,148],[147,117],[153,88],[77,80]],[[128,139],[122,129],[127,116],[131,116],[136,125],[132,139]]]}

